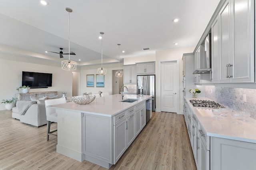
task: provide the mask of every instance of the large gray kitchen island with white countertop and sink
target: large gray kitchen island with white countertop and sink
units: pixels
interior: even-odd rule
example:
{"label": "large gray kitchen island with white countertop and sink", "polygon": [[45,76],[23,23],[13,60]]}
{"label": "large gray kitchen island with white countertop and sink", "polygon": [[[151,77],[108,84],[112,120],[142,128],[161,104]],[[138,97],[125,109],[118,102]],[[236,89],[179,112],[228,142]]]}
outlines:
{"label": "large gray kitchen island with white countertop and sink", "polygon": [[[57,152],[80,162],[104,168],[116,164],[146,125],[146,95],[126,95],[135,102],[121,102],[115,94],[87,105],[74,102],[50,106],[58,114]],[[124,99],[125,100],[125,99]]]}

